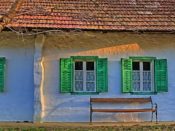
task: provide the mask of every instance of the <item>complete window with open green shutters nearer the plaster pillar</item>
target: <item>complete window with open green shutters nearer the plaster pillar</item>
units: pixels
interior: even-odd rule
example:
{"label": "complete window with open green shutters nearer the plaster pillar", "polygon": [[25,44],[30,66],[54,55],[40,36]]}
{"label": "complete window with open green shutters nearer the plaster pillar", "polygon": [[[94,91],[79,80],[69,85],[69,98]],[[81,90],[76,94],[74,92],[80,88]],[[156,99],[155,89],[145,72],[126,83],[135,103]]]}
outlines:
{"label": "complete window with open green shutters nearer the plaster pillar", "polygon": [[60,60],[62,93],[107,92],[107,58],[71,56]]}

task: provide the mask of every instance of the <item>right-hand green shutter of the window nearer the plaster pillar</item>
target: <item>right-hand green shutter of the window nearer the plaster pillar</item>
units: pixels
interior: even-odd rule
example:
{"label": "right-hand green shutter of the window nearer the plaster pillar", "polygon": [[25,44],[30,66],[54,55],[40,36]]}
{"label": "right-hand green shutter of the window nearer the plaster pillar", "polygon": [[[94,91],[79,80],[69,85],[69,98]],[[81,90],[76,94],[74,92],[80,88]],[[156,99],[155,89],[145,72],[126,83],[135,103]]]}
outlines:
{"label": "right-hand green shutter of the window nearer the plaster pillar", "polygon": [[108,91],[108,61],[107,58],[97,59],[97,92]]}

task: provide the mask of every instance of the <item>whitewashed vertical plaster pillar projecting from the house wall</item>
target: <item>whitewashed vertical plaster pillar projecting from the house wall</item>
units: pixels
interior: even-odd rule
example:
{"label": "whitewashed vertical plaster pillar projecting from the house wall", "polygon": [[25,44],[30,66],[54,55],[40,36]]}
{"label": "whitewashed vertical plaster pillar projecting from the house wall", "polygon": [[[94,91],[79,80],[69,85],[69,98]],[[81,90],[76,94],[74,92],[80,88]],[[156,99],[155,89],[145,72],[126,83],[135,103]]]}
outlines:
{"label": "whitewashed vertical plaster pillar projecting from the house wall", "polygon": [[34,122],[42,120],[42,48],[45,42],[44,35],[37,35],[34,53]]}

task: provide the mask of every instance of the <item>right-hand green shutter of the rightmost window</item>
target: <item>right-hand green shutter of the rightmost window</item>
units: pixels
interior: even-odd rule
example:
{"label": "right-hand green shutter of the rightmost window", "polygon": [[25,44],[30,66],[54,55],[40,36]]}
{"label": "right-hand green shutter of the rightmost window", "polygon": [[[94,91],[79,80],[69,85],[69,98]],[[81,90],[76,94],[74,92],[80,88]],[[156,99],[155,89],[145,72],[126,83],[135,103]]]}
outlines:
{"label": "right-hand green shutter of the rightmost window", "polygon": [[155,60],[155,87],[157,92],[168,92],[167,60]]}

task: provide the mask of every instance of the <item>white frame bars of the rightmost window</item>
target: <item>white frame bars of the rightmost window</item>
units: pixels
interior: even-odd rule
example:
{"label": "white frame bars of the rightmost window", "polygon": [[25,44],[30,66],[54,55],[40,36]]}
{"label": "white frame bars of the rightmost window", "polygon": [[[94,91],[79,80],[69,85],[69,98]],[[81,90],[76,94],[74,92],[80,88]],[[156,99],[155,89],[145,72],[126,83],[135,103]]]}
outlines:
{"label": "white frame bars of the rightmost window", "polygon": [[[145,61],[145,60],[134,60],[132,62],[139,62],[139,66],[140,66],[140,91],[135,91],[134,87],[132,86],[132,92],[153,92],[154,91],[154,61],[153,60],[149,60],[149,61]],[[144,91],[143,90],[143,62],[150,62],[151,67],[151,90],[150,91]],[[133,69],[132,69],[133,72]],[[132,85],[133,85],[133,79],[132,79]]]}

